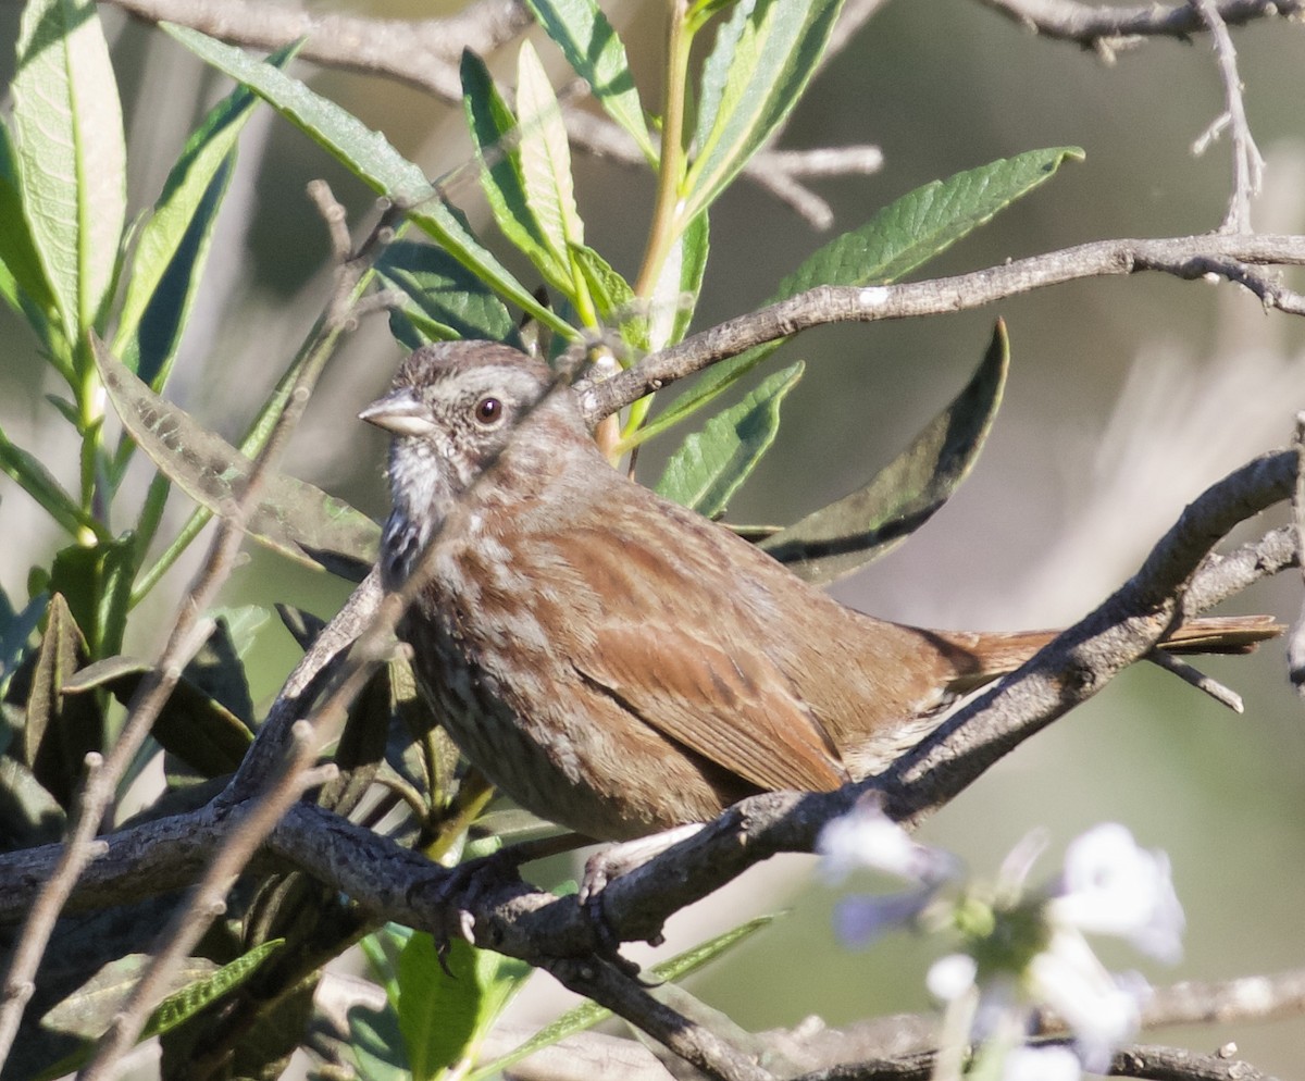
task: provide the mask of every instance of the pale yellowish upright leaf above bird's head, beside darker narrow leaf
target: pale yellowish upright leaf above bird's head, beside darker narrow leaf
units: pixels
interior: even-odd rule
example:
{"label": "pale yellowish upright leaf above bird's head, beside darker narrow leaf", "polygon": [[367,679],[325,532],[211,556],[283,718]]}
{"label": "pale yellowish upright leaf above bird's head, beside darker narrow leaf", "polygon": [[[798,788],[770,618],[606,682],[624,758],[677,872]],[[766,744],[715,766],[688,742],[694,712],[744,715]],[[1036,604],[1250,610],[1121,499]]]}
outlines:
{"label": "pale yellowish upright leaf above bird's head, beside darker narrow leaf", "polygon": [[[529,40],[521,43],[517,57],[517,125],[526,205],[553,256],[569,265],[570,247],[585,243],[585,223],[576,209],[566,125],[548,73]],[[562,285],[574,302],[576,283]]]}

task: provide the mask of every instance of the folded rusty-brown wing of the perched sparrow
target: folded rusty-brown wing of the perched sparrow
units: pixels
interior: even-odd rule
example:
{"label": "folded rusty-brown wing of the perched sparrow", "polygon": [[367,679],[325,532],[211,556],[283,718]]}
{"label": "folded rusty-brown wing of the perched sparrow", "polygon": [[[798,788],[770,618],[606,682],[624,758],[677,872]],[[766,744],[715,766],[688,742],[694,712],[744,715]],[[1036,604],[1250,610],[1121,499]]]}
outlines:
{"label": "folded rusty-brown wing of the perched sparrow", "polygon": [[536,535],[551,595],[535,603],[556,604],[548,623],[566,628],[556,645],[579,676],[643,723],[762,789],[837,789],[838,751],[766,653],[784,628],[748,614],[722,563],[694,561],[726,555],[713,540],[694,551],[620,524]]}

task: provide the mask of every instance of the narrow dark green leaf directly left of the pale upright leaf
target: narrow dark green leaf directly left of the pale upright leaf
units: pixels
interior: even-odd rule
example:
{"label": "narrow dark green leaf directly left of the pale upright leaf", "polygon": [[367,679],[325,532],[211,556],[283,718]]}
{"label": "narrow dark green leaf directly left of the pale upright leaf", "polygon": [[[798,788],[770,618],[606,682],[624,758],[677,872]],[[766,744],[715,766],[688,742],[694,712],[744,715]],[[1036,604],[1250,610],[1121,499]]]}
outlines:
{"label": "narrow dark green leaf directly left of the pale upright leaf", "polygon": [[484,61],[462,52],[462,108],[480,161],[480,187],[504,236],[522,251],[556,287],[569,287],[566,265],[557,257],[526,201],[521,178],[518,128]]}

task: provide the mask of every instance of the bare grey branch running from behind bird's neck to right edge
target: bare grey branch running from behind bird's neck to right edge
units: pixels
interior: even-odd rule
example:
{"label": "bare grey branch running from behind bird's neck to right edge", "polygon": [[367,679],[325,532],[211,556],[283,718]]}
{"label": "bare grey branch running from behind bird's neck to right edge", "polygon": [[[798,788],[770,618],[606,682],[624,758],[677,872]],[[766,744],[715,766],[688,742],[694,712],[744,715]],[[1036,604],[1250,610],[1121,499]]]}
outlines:
{"label": "bare grey branch running from behind bird's neck to right edge", "polygon": [[1188,279],[1218,274],[1251,289],[1267,307],[1305,315],[1305,296],[1251,269],[1302,264],[1305,236],[1206,234],[1154,240],[1098,240],[925,282],[867,289],[820,286],[685,338],[673,349],[652,354],[612,379],[598,384],[582,380],[576,389],[581,394],[585,415],[590,423],[596,423],[709,364],[812,326],[970,311],[1035,289],[1141,270],[1159,270]]}

